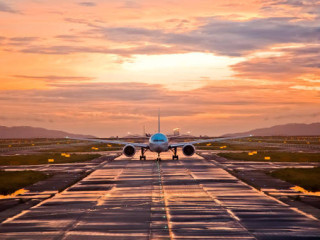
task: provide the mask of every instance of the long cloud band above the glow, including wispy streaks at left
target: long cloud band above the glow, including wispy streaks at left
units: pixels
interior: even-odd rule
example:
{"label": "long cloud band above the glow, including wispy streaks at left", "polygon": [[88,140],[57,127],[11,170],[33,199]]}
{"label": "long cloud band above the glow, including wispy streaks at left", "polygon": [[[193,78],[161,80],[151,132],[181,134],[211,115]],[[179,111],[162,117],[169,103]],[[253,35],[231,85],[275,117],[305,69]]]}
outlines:
{"label": "long cloud band above the glow, including wispy streaks at left", "polygon": [[[320,28],[297,18],[255,18],[232,21],[221,18],[208,19],[206,24],[185,32],[142,27],[101,27],[81,19],[90,29],[78,34],[79,38],[95,38],[108,42],[129,44],[128,48],[105,46],[28,46],[20,51],[42,54],[71,54],[77,52],[117,54],[170,54],[183,52],[211,52],[218,55],[245,56],[257,50],[290,43],[316,43]],[[76,40],[74,35],[60,35],[60,39]]]}

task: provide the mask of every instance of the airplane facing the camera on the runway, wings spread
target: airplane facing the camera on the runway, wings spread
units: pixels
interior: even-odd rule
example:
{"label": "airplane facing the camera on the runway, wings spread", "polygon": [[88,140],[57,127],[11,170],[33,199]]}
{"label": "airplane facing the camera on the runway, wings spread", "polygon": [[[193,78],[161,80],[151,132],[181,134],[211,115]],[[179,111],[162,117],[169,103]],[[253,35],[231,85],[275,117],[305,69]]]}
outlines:
{"label": "airplane facing the camera on the runway, wings spread", "polygon": [[182,147],[182,152],[185,156],[191,157],[196,152],[194,144],[219,142],[219,141],[246,138],[246,137],[252,137],[252,135],[238,136],[238,137],[215,138],[215,139],[204,139],[204,140],[180,142],[180,143],[169,143],[168,137],[165,134],[160,132],[160,111],[159,111],[158,132],[153,134],[149,138],[149,143],[131,143],[131,142],[91,139],[91,138],[69,138],[69,137],[66,137],[66,138],[74,139],[74,140],[107,143],[107,144],[124,145],[122,153],[126,157],[133,157],[136,154],[136,148],[140,148],[140,151],[141,151],[140,160],[146,160],[145,152],[147,150],[149,150],[150,152],[158,153],[158,157],[157,157],[156,161],[161,161],[160,153],[168,152],[169,150],[172,151],[172,153],[173,153],[172,160],[179,160],[179,156],[177,155],[177,148],[179,148],[179,147]]}

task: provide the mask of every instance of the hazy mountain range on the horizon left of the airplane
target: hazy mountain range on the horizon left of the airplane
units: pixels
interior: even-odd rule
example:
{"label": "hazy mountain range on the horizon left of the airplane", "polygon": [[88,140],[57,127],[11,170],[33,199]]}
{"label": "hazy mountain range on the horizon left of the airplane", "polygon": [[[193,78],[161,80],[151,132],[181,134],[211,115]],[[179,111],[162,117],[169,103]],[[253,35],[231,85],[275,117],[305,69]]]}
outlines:
{"label": "hazy mountain range on the horizon left of the airplane", "polygon": [[36,127],[4,127],[0,126],[0,138],[64,138],[64,137],[75,137],[75,138],[92,138],[91,135],[72,134],[58,130],[48,130],[45,128]]}

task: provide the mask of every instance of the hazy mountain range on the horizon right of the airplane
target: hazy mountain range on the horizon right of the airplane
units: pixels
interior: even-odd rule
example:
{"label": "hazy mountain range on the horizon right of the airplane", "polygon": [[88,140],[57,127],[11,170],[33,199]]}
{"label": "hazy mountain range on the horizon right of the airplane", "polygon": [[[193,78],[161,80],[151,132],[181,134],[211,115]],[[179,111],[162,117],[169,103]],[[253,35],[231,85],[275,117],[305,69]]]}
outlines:
{"label": "hazy mountain range on the horizon right of the airplane", "polygon": [[224,136],[320,136],[320,123],[289,123],[269,128],[258,128],[247,132],[225,134]]}

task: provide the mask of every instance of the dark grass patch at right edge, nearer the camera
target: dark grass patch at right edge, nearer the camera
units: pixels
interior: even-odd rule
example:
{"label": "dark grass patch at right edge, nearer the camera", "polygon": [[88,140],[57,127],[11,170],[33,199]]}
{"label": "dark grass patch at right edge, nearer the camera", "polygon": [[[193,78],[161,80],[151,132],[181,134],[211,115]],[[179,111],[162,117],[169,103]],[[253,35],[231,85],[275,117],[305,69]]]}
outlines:
{"label": "dark grass patch at right edge, nearer the camera", "polygon": [[269,173],[272,177],[298,185],[308,191],[320,191],[320,167],[317,168],[285,168]]}

